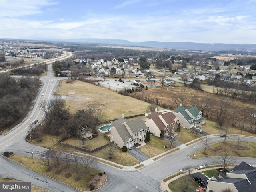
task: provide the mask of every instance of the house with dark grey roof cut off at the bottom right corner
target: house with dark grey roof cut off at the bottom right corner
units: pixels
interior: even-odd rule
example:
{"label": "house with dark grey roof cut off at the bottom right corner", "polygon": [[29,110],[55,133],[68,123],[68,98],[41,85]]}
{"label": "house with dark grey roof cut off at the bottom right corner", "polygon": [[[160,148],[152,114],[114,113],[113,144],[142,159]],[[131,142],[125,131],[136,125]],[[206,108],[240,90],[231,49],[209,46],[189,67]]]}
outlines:
{"label": "house with dark grey roof cut off at the bottom right corner", "polygon": [[222,173],[219,176],[214,175],[212,180],[208,180],[206,191],[220,192],[227,188],[233,192],[256,191],[256,168],[241,162],[226,175]]}

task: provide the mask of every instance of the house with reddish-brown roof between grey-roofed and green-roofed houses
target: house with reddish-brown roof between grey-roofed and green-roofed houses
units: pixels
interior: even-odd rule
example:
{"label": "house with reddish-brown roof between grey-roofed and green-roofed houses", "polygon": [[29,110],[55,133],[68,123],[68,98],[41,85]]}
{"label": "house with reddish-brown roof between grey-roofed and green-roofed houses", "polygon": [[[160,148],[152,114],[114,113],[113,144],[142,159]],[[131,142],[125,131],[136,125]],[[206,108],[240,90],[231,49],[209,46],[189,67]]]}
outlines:
{"label": "house with reddish-brown roof between grey-roofed and green-roofed houses", "polygon": [[164,132],[164,136],[168,136],[172,132],[175,132],[178,124],[179,120],[173,112],[161,114],[153,111],[146,119],[146,125],[148,126],[150,133],[157,137],[160,137],[161,131]]}

